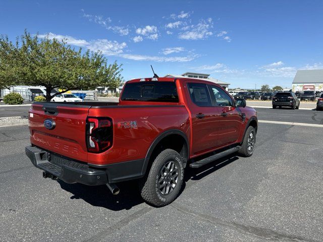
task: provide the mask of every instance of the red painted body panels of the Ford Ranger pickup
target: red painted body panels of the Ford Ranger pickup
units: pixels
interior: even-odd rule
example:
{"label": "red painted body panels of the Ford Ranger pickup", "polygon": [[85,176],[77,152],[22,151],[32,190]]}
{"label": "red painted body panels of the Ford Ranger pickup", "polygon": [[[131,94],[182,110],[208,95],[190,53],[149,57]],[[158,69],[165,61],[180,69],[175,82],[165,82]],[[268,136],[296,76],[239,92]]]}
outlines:
{"label": "red painted body panels of the Ford Ranger pickup", "polygon": [[[140,82],[142,79],[129,81]],[[178,103],[122,101],[118,106],[77,106],[57,104],[58,114],[46,115],[42,105],[33,104],[29,117],[30,141],[45,150],[92,163],[112,164],[129,160],[143,159],[153,141],[163,132],[177,129],[187,137],[190,146],[190,157],[240,143],[248,119],[256,116],[250,107],[200,107],[191,101],[188,82],[204,83],[220,87],[217,84],[195,80],[158,78],[158,81],[176,82],[179,96]],[[146,78],[145,82],[154,82]],[[127,85],[127,84],[126,84]],[[222,88],[222,87],[220,87]],[[122,96],[122,93],[121,93]],[[222,116],[226,112],[228,115]],[[242,123],[239,114],[246,114]],[[196,114],[204,113],[204,118]],[[87,117],[110,117],[113,120],[113,145],[102,153],[87,152],[85,132]],[[43,122],[46,118],[55,121],[56,128],[48,130]],[[135,121],[136,128],[118,128],[119,122]]]}

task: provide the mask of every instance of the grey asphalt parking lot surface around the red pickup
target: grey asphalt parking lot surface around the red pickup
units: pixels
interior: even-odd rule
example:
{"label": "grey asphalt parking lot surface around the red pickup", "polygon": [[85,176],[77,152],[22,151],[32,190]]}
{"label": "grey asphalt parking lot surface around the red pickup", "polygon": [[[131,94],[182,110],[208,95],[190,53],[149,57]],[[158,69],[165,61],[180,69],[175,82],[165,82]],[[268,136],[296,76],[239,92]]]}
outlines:
{"label": "grey asphalt parking lot surface around the red pickup", "polygon": [[[253,156],[187,169],[171,205],[143,203],[135,183],[44,179],[25,156],[27,126],[0,128],[0,241],[322,241],[323,111],[256,108]],[[28,109],[27,109],[28,110]]]}

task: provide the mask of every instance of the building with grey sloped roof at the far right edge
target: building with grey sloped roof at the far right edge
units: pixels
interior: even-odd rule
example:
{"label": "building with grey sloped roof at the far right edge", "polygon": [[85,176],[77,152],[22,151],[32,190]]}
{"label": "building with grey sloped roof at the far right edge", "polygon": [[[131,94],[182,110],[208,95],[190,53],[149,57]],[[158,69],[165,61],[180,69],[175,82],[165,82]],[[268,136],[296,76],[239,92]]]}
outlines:
{"label": "building with grey sloped roof at the far right edge", "polygon": [[323,70],[299,70],[293,83],[292,91],[323,91]]}

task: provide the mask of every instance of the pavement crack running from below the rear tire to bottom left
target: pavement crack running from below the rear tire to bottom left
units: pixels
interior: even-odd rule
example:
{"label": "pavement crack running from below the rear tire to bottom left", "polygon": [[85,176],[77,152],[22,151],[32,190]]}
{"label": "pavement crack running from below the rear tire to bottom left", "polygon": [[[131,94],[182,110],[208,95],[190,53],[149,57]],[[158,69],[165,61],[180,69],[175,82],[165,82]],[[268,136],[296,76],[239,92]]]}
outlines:
{"label": "pavement crack running from below the rear tire to bottom left", "polygon": [[83,240],[83,242],[89,242],[89,241],[100,241],[104,239],[107,235],[110,235],[114,233],[116,230],[120,230],[122,227],[128,225],[130,222],[136,220],[137,218],[140,218],[141,216],[147,214],[153,209],[153,207],[145,207],[140,209],[139,211],[131,214],[130,216],[121,219],[119,222],[115,223],[114,225],[110,226],[109,228],[95,234],[94,236]]}

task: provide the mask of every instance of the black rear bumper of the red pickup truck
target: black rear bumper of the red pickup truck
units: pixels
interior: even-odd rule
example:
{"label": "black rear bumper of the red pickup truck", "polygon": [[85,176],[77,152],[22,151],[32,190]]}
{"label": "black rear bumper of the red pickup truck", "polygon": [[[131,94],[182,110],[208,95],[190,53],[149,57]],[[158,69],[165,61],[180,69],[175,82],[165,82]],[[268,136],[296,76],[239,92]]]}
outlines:
{"label": "black rear bumper of the red pickup truck", "polygon": [[144,159],[100,166],[71,160],[35,146],[27,146],[25,151],[34,166],[66,183],[97,186],[136,179],[144,175]]}

